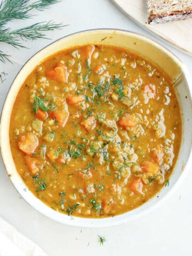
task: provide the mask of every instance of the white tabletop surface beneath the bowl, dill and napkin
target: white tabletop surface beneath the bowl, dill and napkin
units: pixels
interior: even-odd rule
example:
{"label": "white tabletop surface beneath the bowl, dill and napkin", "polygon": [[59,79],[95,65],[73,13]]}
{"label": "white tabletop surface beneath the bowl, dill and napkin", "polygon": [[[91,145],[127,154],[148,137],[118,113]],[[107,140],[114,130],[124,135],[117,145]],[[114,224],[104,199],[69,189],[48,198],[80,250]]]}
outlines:
{"label": "white tabletop surface beneath the bowl, dill and napkin", "polygon": [[[34,12],[37,14],[37,12]],[[0,62],[0,71],[9,75],[0,86],[0,110],[6,93],[21,66],[45,45],[76,31],[91,28],[121,28],[141,33],[165,45],[188,66],[192,74],[192,58],[173,49],[135,25],[109,0],[61,0],[50,10],[33,20],[10,23],[14,28],[32,22],[54,20],[69,26],[47,33],[51,40],[23,42],[29,49],[14,49],[5,44],[0,48],[12,55],[13,64]],[[178,32],[179,34],[179,32]],[[182,38],[181,38],[182,40]],[[192,43],[192,42],[191,42]],[[192,85],[191,85],[192,86]],[[185,154],[185,152],[183,152]],[[21,233],[32,239],[49,256],[61,255],[192,255],[192,172],[183,181],[176,193],[147,216],[128,222],[126,225],[105,229],[74,228],[47,219],[32,209],[19,196],[7,177],[0,159],[0,216]],[[98,235],[107,242],[100,246]],[[1,244],[1,241],[0,241]]]}

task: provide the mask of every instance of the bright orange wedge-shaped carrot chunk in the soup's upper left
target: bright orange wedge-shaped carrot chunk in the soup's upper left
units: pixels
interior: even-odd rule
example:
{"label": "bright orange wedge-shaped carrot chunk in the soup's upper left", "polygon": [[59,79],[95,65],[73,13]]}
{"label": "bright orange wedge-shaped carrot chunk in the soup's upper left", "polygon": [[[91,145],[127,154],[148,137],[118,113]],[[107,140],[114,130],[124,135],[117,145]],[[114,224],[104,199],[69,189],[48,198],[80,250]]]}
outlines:
{"label": "bright orange wedge-shaped carrot chunk in the soup's upper left", "polygon": [[59,66],[47,71],[46,76],[57,82],[68,83],[69,73],[66,66]]}

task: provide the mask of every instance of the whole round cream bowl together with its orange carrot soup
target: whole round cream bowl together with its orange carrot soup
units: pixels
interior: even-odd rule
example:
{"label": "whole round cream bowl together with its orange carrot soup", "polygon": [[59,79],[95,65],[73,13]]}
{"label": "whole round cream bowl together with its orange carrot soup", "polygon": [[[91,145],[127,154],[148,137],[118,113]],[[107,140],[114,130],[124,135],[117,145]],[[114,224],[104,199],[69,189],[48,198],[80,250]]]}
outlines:
{"label": "whole round cream bowl together with its orange carrot soup", "polygon": [[129,31],[89,30],[50,44],[19,71],[2,111],[14,187],[68,225],[142,216],[189,170],[189,84],[177,57]]}

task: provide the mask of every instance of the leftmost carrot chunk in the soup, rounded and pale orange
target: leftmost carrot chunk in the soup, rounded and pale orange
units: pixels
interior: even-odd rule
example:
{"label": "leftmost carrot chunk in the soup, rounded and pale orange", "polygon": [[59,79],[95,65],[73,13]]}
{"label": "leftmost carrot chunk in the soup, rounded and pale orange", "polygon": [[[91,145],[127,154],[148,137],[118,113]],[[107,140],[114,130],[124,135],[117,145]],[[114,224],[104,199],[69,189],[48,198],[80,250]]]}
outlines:
{"label": "leftmost carrot chunk in the soup, rounded and pale orange", "polygon": [[38,138],[33,133],[28,133],[21,137],[19,141],[19,149],[26,154],[34,153],[38,146]]}

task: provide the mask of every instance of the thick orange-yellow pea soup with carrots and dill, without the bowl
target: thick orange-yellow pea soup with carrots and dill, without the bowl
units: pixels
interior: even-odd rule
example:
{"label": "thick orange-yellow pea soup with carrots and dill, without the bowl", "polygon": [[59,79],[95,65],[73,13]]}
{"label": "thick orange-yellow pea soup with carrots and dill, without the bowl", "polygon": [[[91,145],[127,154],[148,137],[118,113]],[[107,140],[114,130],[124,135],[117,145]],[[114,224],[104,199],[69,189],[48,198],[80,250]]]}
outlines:
{"label": "thick orange-yellow pea soup with carrots and dill, without the bowl", "polygon": [[85,45],[51,55],[28,76],[14,102],[10,145],[39,200],[103,218],[169,186],[181,128],[161,69],[125,49]]}

